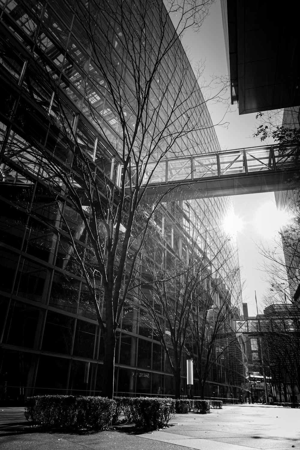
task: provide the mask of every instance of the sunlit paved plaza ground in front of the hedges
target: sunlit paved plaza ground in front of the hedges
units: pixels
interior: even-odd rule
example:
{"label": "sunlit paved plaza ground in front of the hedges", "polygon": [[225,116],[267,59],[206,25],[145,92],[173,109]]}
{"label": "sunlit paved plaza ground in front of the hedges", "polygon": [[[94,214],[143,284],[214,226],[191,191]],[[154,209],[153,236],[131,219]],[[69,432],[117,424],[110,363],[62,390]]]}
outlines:
{"label": "sunlit paved plaza ground in front of the hedges", "polygon": [[0,448],[9,450],[255,450],[300,449],[300,409],[225,405],[210,414],[176,414],[169,428],[126,427],[97,433],[40,432],[23,408],[0,408]]}

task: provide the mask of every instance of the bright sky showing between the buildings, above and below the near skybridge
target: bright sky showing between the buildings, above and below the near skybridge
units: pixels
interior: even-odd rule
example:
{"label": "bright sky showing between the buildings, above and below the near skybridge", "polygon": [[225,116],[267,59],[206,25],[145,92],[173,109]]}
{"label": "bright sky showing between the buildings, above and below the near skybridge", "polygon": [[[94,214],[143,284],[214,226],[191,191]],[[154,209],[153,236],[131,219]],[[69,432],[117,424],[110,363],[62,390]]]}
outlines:
{"label": "bright sky showing between the buildings, above and below the near skybridge", "polygon": [[[205,19],[199,33],[187,32],[183,44],[190,49],[194,64],[200,59],[206,60],[204,76],[207,81],[211,75],[228,74],[220,0],[216,0],[211,7],[210,15]],[[223,116],[224,108],[220,105],[208,105],[208,108],[213,123],[218,123]],[[252,137],[255,130],[255,115],[256,113],[240,116],[237,105],[233,105],[225,117],[229,122],[228,127],[215,128],[221,149],[262,145],[259,139]],[[256,315],[255,290],[259,312],[263,310],[261,305],[263,294],[268,291],[268,284],[262,271],[264,261],[258,252],[257,244],[260,240],[270,243],[266,236],[270,228],[274,228],[276,224],[274,194],[239,195],[233,197],[233,202],[235,215],[245,224],[242,231],[237,233],[242,279],[246,280],[243,302],[248,303],[249,315]],[[274,232],[275,230],[272,231],[273,234]]]}

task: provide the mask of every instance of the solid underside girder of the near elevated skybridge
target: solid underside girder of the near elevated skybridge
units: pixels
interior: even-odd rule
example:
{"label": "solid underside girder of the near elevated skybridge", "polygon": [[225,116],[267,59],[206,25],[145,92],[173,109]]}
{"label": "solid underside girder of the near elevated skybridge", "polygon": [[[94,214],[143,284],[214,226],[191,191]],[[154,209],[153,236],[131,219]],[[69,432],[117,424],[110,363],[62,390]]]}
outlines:
{"label": "solid underside girder of the near elevated skybridge", "polygon": [[200,178],[198,180],[157,183],[146,189],[148,198],[160,197],[163,201],[193,200],[197,198],[224,197],[251,193],[274,192],[294,189],[300,182],[296,175],[299,170],[261,171],[259,173],[237,174]]}

